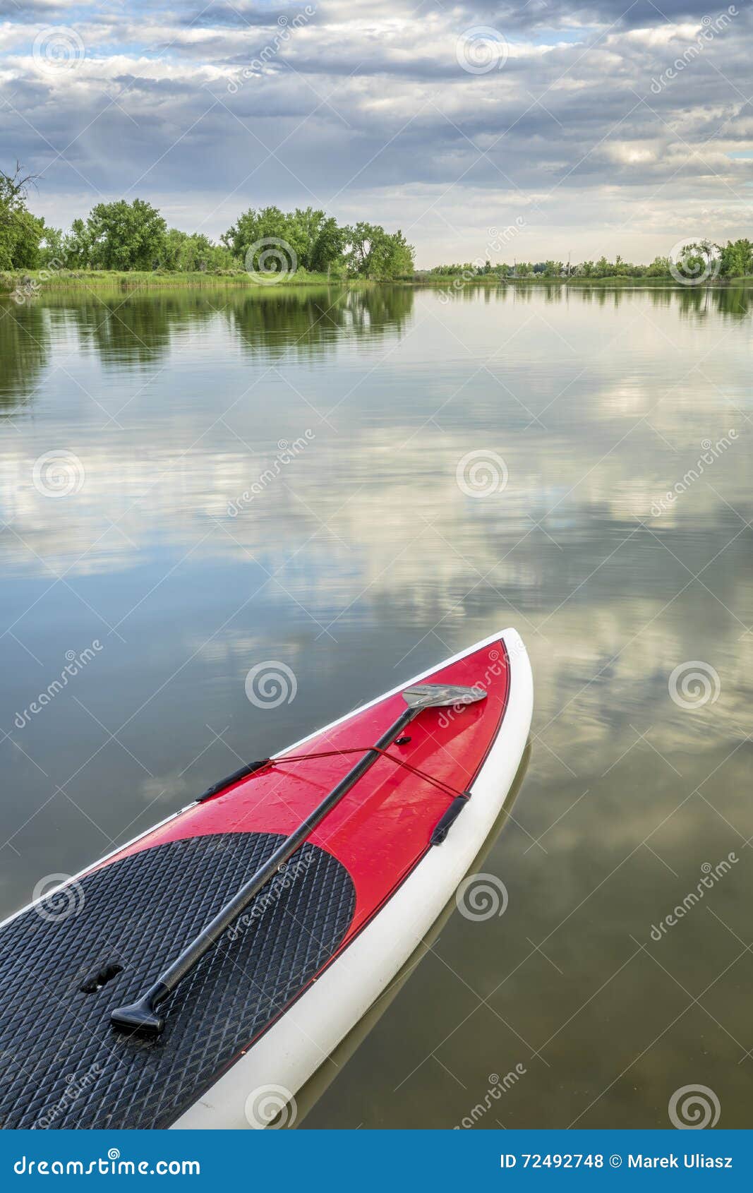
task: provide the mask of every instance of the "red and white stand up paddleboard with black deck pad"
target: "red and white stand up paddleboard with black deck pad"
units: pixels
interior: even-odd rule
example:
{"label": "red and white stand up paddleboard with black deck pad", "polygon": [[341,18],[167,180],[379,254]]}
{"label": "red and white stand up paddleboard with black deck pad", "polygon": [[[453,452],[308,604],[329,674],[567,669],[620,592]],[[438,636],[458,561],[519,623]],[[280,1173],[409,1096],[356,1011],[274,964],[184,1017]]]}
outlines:
{"label": "red and white stand up paddleboard with black deck pad", "polygon": [[532,678],[477,643],[0,926],[0,1124],[269,1121],[442,913],[520,762]]}

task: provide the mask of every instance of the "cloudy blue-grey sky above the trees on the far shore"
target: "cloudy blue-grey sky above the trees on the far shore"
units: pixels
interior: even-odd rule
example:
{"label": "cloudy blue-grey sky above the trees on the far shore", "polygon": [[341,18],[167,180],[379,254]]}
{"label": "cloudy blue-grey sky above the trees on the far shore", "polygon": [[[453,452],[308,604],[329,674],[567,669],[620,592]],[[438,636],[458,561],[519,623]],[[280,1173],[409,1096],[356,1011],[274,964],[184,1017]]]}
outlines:
{"label": "cloudy blue-grey sky above the trees on the far shore", "polygon": [[751,0],[0,0],[0,166],[67,225],[147,198],[402,227],[418,264],[752,231]]}

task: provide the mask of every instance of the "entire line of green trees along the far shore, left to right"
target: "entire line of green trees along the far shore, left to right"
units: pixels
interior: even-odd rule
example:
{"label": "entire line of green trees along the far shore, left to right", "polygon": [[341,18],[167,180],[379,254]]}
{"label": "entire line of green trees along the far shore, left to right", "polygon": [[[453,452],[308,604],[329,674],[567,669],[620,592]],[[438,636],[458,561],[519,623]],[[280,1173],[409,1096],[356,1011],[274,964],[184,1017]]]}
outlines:
{"label": "entire line of green trees along the far shore, left to right", "polygon": [[[29,210],[35,179],[17,165],[0,171],[0,270],[118,270],[233,273],[307,271],[332,278],[397,280],[415,277],[414,249],[402,231],[360,221],[351,227],[314,208],[249,208],[215,243],[203,233],[168,228],[144,199],[98,203],[70,228],[49,227]],[[437,265],[418,277],[499,278],[739,278],[753,276],[753,242],[686,245],[681,258],[635,265],[619,254],[576,265],[563,261],[486,261]]]}

